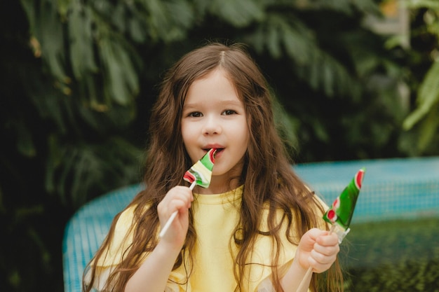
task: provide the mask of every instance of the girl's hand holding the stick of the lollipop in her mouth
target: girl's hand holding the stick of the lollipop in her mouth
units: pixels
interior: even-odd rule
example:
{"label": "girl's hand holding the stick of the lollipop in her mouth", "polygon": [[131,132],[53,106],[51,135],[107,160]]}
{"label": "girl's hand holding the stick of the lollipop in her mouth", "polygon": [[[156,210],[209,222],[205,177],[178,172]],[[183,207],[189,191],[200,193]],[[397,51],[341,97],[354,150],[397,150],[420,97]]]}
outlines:
{"label": "girl's hand holding the stick of the lollipop in her mouth", "polygon": [[168,222],[171,214],[178,211],[177,217],[161,238],[161,242],[167,242],[175,249],[180,250],[182,248],[189,227],[189,208],[193,200],[192,191],[186,186],[171,188],[161,200],[157,206],[161,228]]}

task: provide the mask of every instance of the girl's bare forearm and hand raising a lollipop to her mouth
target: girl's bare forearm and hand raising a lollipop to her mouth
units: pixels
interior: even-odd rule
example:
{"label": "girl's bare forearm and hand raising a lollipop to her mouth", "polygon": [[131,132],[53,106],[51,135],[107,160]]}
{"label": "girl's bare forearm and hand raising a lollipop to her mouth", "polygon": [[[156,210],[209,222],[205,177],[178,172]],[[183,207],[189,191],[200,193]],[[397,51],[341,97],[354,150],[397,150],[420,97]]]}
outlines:
{"label": "girl's bare forearm and hand raising a lollipop to her mouth", "polygon": [[186,238],[192,200],[194,198],[189,188],[177,186],[158,204],[157,211],[162,228],[174,211],[178,211],[178,215],[154,251],[128,280],[125,292],[165,291],[170,272]]}

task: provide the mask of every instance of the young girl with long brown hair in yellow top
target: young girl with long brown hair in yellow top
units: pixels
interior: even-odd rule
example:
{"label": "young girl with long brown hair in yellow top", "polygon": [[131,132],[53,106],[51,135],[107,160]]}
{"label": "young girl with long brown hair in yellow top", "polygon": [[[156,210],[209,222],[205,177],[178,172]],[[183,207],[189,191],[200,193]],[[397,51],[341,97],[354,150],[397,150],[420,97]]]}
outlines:
{"label": "young girl with long brown hair in yellow top", "polygon": [[[114,218],[85,291],[296,292],[309,267],[303,291],[342,291],[325,205],[293,172],[266,80],[242,46],[211,43],[182,57],[150,131],[147,188]],[[192,193],[184,172],[210,148],[210,186]]]}

